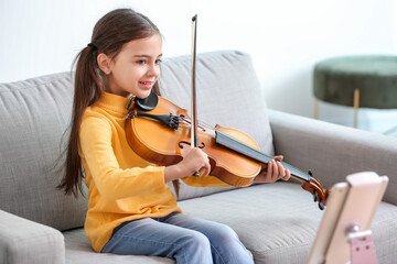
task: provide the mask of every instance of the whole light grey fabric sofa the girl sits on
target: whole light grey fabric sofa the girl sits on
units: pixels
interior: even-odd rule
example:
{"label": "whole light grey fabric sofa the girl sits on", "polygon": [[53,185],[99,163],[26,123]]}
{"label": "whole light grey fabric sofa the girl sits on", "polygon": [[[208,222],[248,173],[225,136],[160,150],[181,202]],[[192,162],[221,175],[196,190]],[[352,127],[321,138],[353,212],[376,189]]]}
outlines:
{"label": "whole light grey fabric sofa the girl sits on", "polygon": [[[87,200],[55,189],[71,118],[71,76],[0,84],[0,263],[173,263],[95,253],[83,229]],[[165,98],[189,109],[190,56],[163,59],[160,86]],[[247,132],[264,152],[311,169],[324,188],[356,172],[387,175],[372,230],[379,263],[395,263],[397,139],[267,109],[250,57],[240,52],[198,54],[197,96],[202,122]],[[182,186],[180,206],[229,224],[256,263],[305,263],[323,216],[294,180],[247,188]]]}

